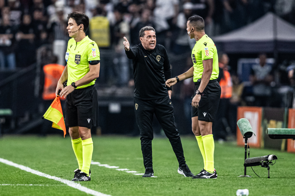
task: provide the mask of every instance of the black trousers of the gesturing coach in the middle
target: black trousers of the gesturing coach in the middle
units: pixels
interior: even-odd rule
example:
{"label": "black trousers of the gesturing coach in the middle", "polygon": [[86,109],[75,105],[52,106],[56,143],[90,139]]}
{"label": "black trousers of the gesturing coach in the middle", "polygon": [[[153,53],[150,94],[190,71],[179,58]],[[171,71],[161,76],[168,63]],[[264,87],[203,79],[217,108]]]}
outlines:
{"label": "black trousers of the gesturing coach in the middle", "polygon": [[153,167],[152,140],[154,132],[152,122],[154,113],[171,143],[179,165],[185,164],[182,143],[175,126],[173,106],[169,96],[151,100],[134,97],[134,110],[140,130],[141,151],[145,168]]}

